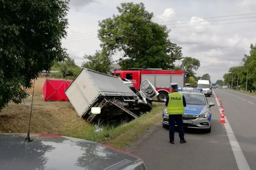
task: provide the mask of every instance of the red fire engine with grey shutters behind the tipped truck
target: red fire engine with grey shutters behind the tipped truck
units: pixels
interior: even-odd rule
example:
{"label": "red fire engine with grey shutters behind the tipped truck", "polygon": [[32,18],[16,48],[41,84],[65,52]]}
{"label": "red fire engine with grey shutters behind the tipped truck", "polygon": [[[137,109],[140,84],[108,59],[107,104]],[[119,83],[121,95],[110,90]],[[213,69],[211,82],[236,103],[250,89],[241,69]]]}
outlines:
{"label": "red fire engine with grey shutters behind the tipped truck", "polygon": [[162,70],[158,68],[131,69],[132,70],[113,71],[111,74],[130,80],[133,86],[138,90],[140,90],[140,83],[148,79],[159,93],[157,96],[159,102],[164,102],[170,93],[170,83],[179,83],[180,87],[184,87],[185,85],[184,71],[182,70]]}

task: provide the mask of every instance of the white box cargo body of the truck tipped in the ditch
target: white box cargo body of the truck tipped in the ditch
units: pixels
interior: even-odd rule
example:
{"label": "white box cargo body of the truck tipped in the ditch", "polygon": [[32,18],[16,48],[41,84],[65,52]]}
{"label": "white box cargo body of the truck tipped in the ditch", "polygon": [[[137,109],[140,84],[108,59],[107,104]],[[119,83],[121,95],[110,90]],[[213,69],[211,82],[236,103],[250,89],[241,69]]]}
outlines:
{"label": "white box cargo body of the truck tipped in the ditch", "polygon": [[120,78],[87,68],[82,69],[65,93],[80,117],[84,117],[86,113],[90,114],[91,107],[96,103],[105,104],[104,98],[115,96],[137,98],[137,95]]}

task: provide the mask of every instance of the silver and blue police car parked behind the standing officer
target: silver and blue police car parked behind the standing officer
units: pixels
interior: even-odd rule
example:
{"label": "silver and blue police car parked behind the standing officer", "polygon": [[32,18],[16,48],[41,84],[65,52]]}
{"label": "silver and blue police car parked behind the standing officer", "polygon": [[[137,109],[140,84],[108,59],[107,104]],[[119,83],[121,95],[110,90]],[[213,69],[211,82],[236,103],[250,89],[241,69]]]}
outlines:
{"label": "silver and blue police car parked behind the standing officer", "polygon": [[[185,113],[182,115],[183,124],[185,128],[204,129],[211,132],[212,113],[210,107],[215,104],[208,102],[202,88],[186,88],[180,87],[178,89],[185,97],[187,106]],[[168,127],[167,107],[163,110],[163,127]]]}

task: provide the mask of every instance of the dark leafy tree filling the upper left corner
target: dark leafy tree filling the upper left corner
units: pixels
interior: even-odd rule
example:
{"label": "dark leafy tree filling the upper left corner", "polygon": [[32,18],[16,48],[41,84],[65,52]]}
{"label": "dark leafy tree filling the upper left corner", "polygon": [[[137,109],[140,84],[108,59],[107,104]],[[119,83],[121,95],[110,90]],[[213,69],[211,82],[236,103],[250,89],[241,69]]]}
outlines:
{"label": "dark leafy tree filling the upper left corner", "polygon": [[66,0],[0,1],[0,110],[20,103],[31,80],[68,55]]}

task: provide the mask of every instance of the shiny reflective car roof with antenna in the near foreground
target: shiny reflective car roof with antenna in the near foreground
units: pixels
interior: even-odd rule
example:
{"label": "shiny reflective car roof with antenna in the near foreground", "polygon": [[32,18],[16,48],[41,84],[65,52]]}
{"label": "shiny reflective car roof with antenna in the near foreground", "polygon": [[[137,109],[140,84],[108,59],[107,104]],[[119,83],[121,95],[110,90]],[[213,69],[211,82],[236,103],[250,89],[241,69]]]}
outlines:
{"label": "shiny reflective car roof with antenna in the near foreground", "polygon": [[88,140],[58,135],[0,133],[0,169],[148,170],[141,158]]}

